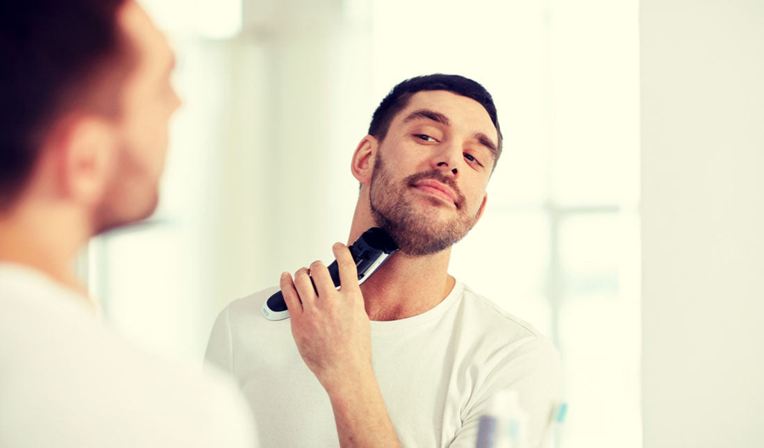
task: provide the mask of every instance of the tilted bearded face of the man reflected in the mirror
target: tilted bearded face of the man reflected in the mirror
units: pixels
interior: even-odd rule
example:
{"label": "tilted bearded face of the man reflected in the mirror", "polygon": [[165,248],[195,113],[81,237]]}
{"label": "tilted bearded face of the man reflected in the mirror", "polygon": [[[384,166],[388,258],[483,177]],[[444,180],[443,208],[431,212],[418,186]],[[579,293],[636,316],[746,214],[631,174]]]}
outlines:
{"label": "tilted bearded face of the man reflected in the mirror", "polygon": [[410,255],[453,245],[482,213],[497,137],[474,99],[445,90],[411,96],[374,156],[369,196],[377,226]]}

